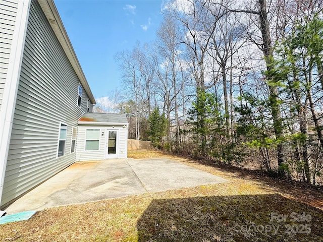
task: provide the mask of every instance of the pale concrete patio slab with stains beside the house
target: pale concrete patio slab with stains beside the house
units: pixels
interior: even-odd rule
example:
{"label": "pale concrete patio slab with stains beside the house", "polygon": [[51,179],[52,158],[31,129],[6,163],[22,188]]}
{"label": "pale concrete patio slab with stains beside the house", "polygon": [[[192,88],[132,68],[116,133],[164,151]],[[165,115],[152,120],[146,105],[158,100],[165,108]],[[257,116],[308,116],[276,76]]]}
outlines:
{"label": "pale concrete patio slab with stains beside the house", "polygon": [[76,162],[15,201],[8,214],[224,183],[228,180],[170,159]]}

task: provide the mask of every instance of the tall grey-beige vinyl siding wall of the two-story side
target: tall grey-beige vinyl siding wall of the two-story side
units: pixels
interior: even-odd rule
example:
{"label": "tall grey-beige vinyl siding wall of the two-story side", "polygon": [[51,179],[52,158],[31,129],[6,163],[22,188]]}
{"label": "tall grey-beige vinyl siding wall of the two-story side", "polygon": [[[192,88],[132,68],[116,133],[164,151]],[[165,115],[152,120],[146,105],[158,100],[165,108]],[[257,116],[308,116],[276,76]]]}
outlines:
{"label": "tall grey-beige vinyl siding wall of the two-story side", "polygon": [[[72,128],[86,112],[79,79],[38,2],[32,1],[7,160],[2,205],[75,162]],[[65,155],[57,158],[60,122],[67,124]]]}

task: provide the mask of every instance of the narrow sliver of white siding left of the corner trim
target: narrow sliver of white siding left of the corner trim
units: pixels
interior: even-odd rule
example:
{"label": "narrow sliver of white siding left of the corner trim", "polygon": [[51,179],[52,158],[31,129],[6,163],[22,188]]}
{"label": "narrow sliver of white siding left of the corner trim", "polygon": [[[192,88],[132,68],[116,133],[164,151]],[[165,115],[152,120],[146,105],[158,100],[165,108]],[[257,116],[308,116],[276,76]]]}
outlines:
{"label": "narrow sliver of white siding left of the corner trim", "polygon": [[0,1],[0,110],[4,95],[18,0]]}

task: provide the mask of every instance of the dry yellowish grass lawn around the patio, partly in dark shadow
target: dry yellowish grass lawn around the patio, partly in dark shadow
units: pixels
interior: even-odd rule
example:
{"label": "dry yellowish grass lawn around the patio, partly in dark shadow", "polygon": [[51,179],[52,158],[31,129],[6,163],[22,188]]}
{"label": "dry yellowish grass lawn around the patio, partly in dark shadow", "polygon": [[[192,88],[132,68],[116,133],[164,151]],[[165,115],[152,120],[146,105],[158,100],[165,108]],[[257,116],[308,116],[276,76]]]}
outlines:
{"label": "dry yellowish grass lawn around the patio, partly in dark shadow", "polygon": [[230,183],[46,209],[0,225],[0,240],[323,241],[320,189],[157,151],[128,156],[173,158]]}

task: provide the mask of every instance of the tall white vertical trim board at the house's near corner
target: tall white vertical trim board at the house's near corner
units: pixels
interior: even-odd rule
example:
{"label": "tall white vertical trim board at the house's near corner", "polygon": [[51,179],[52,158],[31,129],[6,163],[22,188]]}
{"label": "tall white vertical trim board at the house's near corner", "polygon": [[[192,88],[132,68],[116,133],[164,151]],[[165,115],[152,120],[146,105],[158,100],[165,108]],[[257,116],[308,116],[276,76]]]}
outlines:
{"label": "tall white vertical trim board at the house's near corner", "polygon": [[22,56],[31,0],[18,1],[15,29],[10,49],[4,96],[0,110],[0,202],[4,188],[7,158],[16,106]]}

